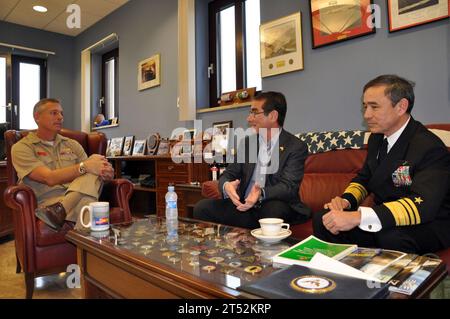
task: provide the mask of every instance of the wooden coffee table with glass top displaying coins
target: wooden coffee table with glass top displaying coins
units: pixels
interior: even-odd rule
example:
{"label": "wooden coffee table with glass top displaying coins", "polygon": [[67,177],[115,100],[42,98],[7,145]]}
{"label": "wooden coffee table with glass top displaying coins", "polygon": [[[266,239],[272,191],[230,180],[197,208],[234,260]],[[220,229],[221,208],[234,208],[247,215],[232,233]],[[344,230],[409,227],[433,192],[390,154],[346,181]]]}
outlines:
{"label": "wooden coffee table with glass top displaying coins", "polygon": [[[267,244],[247,229],[156,216],[66,238],[77,246],[84,298],[256,297],[237,288],[278,270],[271,257],[298,242]],[[445,275],[442,263],[411,297],[427,296]]]}

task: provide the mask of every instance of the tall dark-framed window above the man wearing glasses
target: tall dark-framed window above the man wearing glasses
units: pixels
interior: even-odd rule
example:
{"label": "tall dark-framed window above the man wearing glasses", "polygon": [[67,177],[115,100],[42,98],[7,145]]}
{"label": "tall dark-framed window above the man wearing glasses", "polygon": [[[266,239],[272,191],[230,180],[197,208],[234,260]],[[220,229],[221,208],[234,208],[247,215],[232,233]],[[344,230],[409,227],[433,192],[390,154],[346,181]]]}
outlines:
{"label": "tall dark-framed window above the man wearing glasses", "polygon": [[220,95],[247,87],[261,90],[260,0],[209,4],[210,105]]}

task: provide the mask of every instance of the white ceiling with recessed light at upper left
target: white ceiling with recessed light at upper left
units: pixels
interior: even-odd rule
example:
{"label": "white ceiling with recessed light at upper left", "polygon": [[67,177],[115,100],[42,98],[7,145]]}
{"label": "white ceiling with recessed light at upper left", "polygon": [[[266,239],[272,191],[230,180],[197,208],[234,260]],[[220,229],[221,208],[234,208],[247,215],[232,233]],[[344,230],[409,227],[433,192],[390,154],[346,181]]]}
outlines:
{"label": "white ceiling with recessed light at upper left", "polygon": [[[21,24],[36,29],[77,36],[97,21],[129,0],[0,0],[0,20]],[[81,28],[69,29],[66,25],[71,14],[66,12],[69,4],[78,4],[81,9]],[[41,5],[46,13],[33,10]]]}

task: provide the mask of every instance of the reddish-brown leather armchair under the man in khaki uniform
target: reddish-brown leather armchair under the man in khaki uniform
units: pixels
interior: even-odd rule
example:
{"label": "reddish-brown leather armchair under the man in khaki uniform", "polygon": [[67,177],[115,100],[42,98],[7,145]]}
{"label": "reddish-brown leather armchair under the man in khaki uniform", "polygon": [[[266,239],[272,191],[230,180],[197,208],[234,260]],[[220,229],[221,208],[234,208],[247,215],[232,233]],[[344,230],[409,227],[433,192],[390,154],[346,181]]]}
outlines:
{"label": "reddish-brown leather armchair under the man in khaki uniform", "polygon": [[[26,136],[28,132],[5,132],[7,151],[8,188],[5,190],[5,203],[13,209],[14,237],[16,244],[17,269],[25,272],[26,298],[34,291],[34,278],[66,271],[67,265],[77,263],[76,247],[65,240],[71,227],[67,224],[59,232],[50,229],[37,219],[34,211],[37,207],[33,190],[25,185],[17,185],[17,174],[11,162],[11,147]],[[78,141],[88,155],[106,153],[105,134],[83,133],[63,129],[61,135]],[[106,183],[100,197],[110,203],[111,223],[131,221],[128,205],[133,193],[133,185],[125,179],[115,179]]]}

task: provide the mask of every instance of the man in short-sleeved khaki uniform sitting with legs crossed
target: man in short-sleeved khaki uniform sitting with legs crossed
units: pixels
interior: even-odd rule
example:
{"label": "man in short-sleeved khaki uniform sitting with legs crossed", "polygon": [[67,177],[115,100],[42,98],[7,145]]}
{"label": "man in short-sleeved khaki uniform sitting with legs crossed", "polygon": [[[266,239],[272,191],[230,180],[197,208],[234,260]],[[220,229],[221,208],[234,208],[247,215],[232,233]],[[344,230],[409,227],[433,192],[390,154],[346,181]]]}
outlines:
{"label": "man in short-sleeved khaki uniform sitting with legs crossed", "polygon": [[58,100],[39,101],[33,114],[38,129],[12,147],[12,163],[19,183],[36,194],[36,216],[60,230],[66,220],[78,222],[81,208],[98,200],[114,170],[104,156],[88,158],[77,141],[58,134],[64,120]]}

